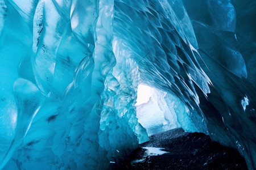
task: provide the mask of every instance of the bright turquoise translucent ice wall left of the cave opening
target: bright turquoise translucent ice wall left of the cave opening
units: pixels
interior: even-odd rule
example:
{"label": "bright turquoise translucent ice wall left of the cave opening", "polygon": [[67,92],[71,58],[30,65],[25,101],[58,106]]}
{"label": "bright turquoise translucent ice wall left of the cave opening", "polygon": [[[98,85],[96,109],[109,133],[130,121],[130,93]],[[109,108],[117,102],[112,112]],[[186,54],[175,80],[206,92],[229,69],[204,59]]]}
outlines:
{"label": "bright turquoise translucent ice wall left of the cave opening", "polygon": [[111,94],[114,1],[0,5],[0,169],[105,169],[148,140],[137,85]]}

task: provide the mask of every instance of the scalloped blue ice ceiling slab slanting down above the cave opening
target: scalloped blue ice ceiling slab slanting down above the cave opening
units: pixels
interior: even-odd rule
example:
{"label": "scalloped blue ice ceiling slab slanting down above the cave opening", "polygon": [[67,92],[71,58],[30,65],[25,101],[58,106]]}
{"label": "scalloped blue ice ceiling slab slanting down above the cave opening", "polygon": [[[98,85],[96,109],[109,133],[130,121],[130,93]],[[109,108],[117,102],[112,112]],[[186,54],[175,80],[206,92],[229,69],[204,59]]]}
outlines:
{"label": "scalloped blue ice ceiling slab slanting down above the cave opening", "polygon": [[114,36],[131,49],[142,80],[179,96],[181,105],[187,104],[191,116],[183,128],[207,132],[193,83],[206,94],[210,80],[193,54],[197,42],[183,3],[175,1],[172,5],[167,1],[115,1]]}

